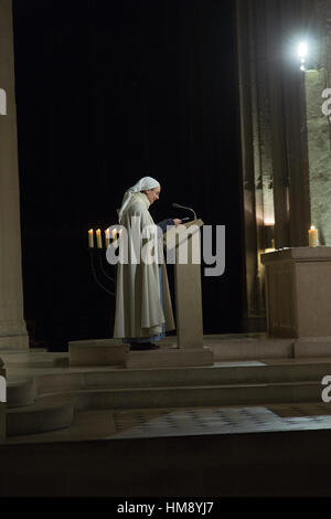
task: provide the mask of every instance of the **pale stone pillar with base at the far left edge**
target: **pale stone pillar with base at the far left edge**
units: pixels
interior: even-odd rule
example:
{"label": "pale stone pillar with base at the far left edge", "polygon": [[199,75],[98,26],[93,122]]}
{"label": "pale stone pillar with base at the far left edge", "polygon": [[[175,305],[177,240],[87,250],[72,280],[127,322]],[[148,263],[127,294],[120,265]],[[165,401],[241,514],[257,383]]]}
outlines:
{"label": "pale stone pillar with base at the far left edge", "polygon": [[0,0],[0,349],[21,349],[29,347],[29,337],[23,319],[11,0]]}

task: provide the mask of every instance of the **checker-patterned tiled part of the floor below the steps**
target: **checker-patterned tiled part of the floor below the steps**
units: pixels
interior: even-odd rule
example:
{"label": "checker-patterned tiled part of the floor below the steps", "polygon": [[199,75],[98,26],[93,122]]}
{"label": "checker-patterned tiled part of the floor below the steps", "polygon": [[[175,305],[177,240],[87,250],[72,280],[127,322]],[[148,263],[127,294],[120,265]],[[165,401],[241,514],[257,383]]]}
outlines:
{"label": "checker-patterned tiled part of the floor below the steps", "polygon": [[[152,437],[205,434],[241,434],[269,431],[331,428],[331,407],[319,411],[310,404],[299,414],[296,406],[209,407],[119,411],[114,422],[120,437]],[[302,405],[301,405],[302,407]],[[277,414],[276,414],[277,413]],[[295,414],[297,413],[297,414]],[[287,417],[281,417],[281,414]],[[292,417],[293,416],[293,417]]]}

